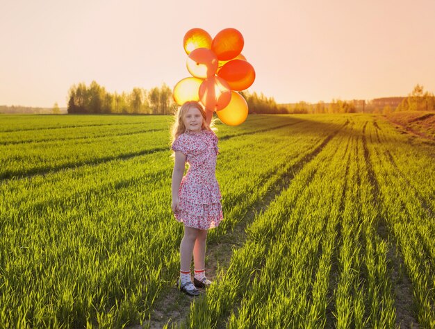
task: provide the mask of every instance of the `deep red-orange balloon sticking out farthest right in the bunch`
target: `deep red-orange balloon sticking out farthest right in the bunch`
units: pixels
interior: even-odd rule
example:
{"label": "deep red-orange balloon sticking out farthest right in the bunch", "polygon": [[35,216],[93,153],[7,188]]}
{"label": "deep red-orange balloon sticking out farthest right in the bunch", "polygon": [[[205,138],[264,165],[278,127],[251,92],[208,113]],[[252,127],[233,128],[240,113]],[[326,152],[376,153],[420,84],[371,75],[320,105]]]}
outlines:
{"label": "deep red-orange balloon sticking out farthest right in the bunch", "polygon": [[230,60],[225,64],[217,76],[224,78],[231,90],[245,90],[254,83],[254,67],[246,60]]}

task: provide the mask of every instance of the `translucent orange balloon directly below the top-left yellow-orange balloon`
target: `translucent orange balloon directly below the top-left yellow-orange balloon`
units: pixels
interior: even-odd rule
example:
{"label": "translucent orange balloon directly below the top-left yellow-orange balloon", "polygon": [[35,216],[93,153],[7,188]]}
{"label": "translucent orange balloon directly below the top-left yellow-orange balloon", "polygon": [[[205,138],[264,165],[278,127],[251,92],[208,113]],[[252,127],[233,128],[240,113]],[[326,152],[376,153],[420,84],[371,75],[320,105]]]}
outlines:
{"label": "translucent orange balloon directly below the top-left yellow-orange balloon", "polygon": [[197,48],[189,54],[186,65],[192,76],[208,78],[216,73],[217,57],[210,49]]}

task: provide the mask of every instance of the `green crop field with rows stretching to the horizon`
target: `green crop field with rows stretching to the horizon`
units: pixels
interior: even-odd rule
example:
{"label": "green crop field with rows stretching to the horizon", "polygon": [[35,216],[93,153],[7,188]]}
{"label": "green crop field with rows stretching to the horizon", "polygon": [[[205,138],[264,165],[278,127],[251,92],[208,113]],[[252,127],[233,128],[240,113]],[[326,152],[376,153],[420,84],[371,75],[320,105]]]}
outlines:
{"label": "green crop field with rows stretching to the horizon", "polygon": [[0,116],[0,328],[435,328],[435,142],[374,115],[217,124],[224,221],[177,291],[167,116]]}

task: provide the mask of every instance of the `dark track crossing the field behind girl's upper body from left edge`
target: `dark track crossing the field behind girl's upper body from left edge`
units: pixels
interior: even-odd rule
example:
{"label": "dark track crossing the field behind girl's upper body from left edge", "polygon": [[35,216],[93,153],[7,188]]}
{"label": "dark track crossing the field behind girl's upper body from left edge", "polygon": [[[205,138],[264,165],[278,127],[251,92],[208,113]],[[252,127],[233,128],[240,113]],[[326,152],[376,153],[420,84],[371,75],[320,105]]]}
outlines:
{"label": "dark track crossing the field behind girl's upper body from left edge", "polygon": [[[237,135],[225,135],[225,136],[220,137],[220,140],[229,140],[230,138],[239,137],[242,135],[252,135],[252,134],[256,134],[256,133],[264,133],[264,132],[267,132],[270,130],[284,128],[286,126],[293,126],[293,125],[299,124],[301,122],[303,122],[303,120],[297,121],[297,122],[292,122],[290,124],[284,124],[281,126],[275,126],[272,128],[265,128],[265,129],[261,129],[261,130],[240,133]],[[23,170],[23,171],[6,170],[6,171],[3,171],[3,173],[0,173],[0,183],[2,180],[7,180],[10,178],[29,178],[29,177],[32,177],[35,175],[46,175],[46,174],[56,173],[56,172],[61,171],[61,170],[77,169],[78,167],[82,167],[82,166],[86,166],[86,165],[99,165],[101,163],[110,162],[110,161],[114,161],[114,160],[129,160],[131,158],[141,156],[141,155],[169,151],[169,149],[170,149],[169,146],[156,147],[154,149],[147,149],[147,150],[142,150],[142,151],[137,151],[137,152],[124,153],[122,155],[112,155],[112,156],[106,156],[106,157],[102,157],[102,158],[98,158],[98,159],[83,160],[83,161],[79,161],[79,162],[67,162],[65,164],[56,165],[56,166],[51,167],[51,168],[33,167],[32,169]]]}

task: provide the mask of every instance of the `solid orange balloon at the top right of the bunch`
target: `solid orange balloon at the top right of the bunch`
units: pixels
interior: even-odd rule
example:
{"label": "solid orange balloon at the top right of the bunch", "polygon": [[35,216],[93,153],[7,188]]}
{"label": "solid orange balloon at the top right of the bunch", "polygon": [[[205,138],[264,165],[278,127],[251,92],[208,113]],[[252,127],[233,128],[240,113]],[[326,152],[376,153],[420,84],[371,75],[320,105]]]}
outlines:
{"label": "solid orange balloon at the top right of the bunch", "polygon": [[232,60],[242,52],[244,44],[243,35],[236,28],[224,28],[211,42],[211,50],[218,60]]}

